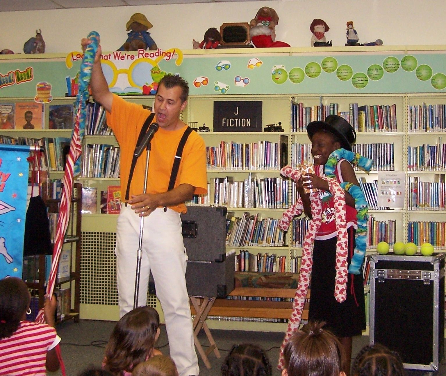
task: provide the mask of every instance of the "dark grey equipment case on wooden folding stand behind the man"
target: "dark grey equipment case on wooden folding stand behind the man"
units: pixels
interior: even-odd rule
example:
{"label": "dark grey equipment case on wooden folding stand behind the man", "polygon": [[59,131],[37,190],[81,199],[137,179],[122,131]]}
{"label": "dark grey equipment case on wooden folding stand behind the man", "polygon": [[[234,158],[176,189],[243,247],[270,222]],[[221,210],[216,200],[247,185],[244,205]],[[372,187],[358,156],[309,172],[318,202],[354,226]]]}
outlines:
{"label": "dark grey equipment case on wooden folding stand behind the man", "polygon": [[226,255],[226,207],[187,206],[182,214],[189,296],[224,298],[234,290],[235,254]]}

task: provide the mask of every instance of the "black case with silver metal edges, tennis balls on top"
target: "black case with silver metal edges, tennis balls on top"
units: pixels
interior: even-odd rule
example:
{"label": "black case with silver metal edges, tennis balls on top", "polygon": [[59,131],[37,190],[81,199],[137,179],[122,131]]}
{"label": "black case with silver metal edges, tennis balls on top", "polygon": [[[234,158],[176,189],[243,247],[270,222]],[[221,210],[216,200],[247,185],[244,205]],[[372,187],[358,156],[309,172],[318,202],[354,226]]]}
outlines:
{"label": "black case with silver metal edges, tennis balls on top", "polygon": [[396,350],[404,367],[437,371],[444,355],[445,254],[372,255],[370,344]]}

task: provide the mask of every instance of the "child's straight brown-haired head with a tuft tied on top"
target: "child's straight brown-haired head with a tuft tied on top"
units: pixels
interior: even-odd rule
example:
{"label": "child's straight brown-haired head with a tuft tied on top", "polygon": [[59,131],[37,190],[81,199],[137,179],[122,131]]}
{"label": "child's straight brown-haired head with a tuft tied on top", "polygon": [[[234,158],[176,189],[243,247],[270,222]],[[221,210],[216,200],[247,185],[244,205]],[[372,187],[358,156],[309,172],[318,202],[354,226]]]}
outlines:
{"label": "child's straight brown-haired head with a tuft tied on top", "polygon": [[283,352],[283,376],[338,376],[343,372],[343,347],[323,325],[309,322],[289,338]]}

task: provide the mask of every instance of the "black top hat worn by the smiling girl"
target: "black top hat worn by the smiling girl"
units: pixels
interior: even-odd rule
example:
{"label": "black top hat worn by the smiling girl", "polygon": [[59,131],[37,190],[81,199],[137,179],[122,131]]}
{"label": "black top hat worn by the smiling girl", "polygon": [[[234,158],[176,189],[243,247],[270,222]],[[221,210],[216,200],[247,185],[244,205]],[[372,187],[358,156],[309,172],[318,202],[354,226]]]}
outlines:
{"label": "black top hat worn by the smiling girl", "polygon": [[325,121],[312,121],[307,125],[310,140],[314,133],[322,129],[338,137],[343,149],[352,151],[351,145],[356,141],[356,132],[347,120],[338,115],[329,115],[325,118]]}

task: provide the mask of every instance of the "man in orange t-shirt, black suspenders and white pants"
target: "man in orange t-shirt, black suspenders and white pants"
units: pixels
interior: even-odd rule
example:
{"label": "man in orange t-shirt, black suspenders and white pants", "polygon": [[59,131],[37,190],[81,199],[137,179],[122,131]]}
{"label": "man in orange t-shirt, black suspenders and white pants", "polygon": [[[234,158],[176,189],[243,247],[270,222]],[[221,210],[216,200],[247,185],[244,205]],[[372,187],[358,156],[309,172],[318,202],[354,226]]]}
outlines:
{"label": "man in orange t-shirt, black suspenders and white pants", "polygon": [[[89,40],[83,39],[85,47]],[[100,64],[101,47],[96,53],[91,74],[91,92],[107,110],[107,125],[120,145],[121,192],[125,192],[136,141],[150,111],[124,101],[111,93]],[[139,248],[140,217],[145,216],[138,306],[145,306],[149,271],[152,271],[157,297],[163,308],[170,356],[180,376],[198,375],[189,297],[186,290],[186,250],[183,245],[180,213],[193,194],[207,190],[206,146],[201,136],[190,133],[174,188],[168,191],[169,178],[178,143],[187,129],[180,120],[189,87],[179,76],[167,75],[158,85],[155,121],[159,125],[151,141],[148,184],[143,192],[146,153],[138,158],[127,203],[121,205],[116,231],[117,281],[120,316],[133,308],[136,252]],[[167,209],[165,209],[167,208]]]}

